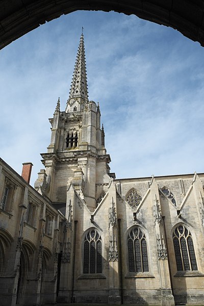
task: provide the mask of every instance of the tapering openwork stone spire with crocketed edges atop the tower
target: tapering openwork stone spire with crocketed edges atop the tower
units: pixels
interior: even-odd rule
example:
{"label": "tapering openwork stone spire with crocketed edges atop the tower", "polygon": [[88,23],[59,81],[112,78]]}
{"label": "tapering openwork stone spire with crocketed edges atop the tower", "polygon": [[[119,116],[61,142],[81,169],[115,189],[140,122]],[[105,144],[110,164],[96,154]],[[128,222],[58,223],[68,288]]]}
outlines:
{"label": "tapering openwork stone spire with crocketed edges atop the tower", "polygon": [[67,106],[71,106],[74,101],[78,101],[81,105],[88,101],[87,75],[86,75],[86,60],[84,49],[84,35],[82,33],[78,48],[77,60],[74,66],[73,79]]}

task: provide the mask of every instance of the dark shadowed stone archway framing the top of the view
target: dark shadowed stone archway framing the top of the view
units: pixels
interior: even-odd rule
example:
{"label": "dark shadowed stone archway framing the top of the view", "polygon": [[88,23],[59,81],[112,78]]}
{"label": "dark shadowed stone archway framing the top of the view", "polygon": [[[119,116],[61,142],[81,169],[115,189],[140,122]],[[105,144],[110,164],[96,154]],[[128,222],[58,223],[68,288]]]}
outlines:
{"label": "dark shadowed stone archway framing the top of the view", "polygon": [[202,0],[2,0],[0,49],[40,24],[77,10],[115,11],[167,25],[204,46]]}

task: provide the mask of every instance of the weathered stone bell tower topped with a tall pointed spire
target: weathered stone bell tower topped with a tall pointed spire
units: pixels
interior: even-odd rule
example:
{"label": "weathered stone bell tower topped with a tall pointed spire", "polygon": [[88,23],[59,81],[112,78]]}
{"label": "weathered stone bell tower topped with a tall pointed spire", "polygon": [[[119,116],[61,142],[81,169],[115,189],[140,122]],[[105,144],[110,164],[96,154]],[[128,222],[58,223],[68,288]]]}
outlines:
{"label": "weathered stone bell tower topped with a tall pointed spire", "polygon": [[35,188],[58,208],[65,207],[70,184],[90,211],[109,184],[110,156],[106,153],[104,128],[100,126],[99,105],[88,99],[83,33],[74,66],[65,111],[58,99],[54,117],[49,119],[52,135],[47,153],[41,154],[45,170],[40,170]]}

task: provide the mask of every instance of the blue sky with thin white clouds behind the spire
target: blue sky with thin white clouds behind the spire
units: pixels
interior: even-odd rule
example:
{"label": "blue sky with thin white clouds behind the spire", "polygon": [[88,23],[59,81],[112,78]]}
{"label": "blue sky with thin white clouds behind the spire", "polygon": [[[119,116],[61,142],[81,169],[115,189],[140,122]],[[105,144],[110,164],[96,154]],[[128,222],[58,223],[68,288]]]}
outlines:
{"label": "blue sky with thin white clouds behind the spire", "polygon": [[204,49],[134,15],[78,11],[1,50],[1,157],[19,174],[50,142],[65,110],[84,27],[89,99],[99,102],[117,178],[203,172]]}

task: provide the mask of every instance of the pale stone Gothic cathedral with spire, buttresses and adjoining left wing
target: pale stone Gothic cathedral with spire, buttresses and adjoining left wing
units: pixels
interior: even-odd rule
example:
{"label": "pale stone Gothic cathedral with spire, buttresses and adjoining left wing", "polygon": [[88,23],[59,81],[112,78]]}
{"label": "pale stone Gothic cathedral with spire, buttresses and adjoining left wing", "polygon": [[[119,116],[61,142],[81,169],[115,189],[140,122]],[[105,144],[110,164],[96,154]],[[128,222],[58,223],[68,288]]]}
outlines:
{"label": "pale stone Gothic cathedral with spire, buttresses and adjoining left wing", "polygon": [[204,173],[116,179],[87,88],[82,34],[34,188],[0,159],[1,306],[202,305]]}

